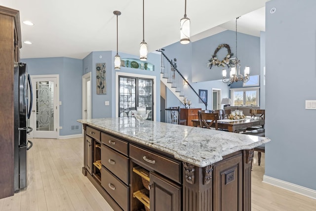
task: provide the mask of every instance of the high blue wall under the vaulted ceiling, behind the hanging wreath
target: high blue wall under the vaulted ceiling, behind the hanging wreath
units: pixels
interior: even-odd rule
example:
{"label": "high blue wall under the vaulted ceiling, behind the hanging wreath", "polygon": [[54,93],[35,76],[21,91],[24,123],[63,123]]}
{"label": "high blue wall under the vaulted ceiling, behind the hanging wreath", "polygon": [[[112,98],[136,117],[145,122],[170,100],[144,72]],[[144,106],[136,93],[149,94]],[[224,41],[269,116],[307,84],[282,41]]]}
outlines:
{"label": "high blue wall under the vaulted ceiling, behind the hanging wreath", "polygon": [[[260,39],[258,37],[237,33],[237,57],[240,60],[240,73],[245,66],[250,66],[250,75],[260,75]],[[224,31],[219,34],[193,42],[192,47],[192,81],[203,82],[222,79],[222,67],[207,67],[208,60],[214,54],[219,44],[229,44],[232,53],[236,56],[236,32]],[[224,58],[226,48],[219,50],[217,57]],[[228,68],[225,68],[228,70]],[[229,75],[229,71],[228,71]]]}

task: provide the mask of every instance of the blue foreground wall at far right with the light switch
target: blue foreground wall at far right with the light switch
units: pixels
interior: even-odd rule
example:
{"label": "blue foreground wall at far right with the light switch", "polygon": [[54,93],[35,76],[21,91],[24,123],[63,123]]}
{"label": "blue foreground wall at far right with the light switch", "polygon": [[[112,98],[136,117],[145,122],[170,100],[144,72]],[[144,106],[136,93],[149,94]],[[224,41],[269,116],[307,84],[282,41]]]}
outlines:
{"label": "blue foreground wall at far right with the light switch", "polygon": [[265,173],[316,190],[316,1],[303,2],[266,3]]}

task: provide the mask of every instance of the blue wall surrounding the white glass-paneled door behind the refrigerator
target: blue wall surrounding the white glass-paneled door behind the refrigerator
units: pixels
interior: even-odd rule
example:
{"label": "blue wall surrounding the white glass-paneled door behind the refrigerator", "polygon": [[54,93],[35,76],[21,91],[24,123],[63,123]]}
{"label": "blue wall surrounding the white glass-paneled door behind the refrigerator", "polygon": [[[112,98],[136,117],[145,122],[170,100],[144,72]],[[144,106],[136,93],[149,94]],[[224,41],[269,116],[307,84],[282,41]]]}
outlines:
{"label": "blue wall surrounding the white glass-paneled door behind the refrigerator", "polygon": [[30,75],[59,75],[59,126],[60,135],[81,133],[70,130],[73,125],[80,125],[77,120],[81,117],[81,77],[82,60],[66,57],[21,59],[27,63]]}

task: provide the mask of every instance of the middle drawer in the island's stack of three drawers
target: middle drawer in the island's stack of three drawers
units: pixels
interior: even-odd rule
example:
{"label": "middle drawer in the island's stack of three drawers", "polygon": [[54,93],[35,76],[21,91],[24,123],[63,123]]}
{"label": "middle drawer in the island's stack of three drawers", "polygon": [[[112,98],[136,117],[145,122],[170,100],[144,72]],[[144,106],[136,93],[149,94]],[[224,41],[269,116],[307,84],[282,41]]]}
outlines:
{"label": "middle drawer in the island's stack of three drawers", "polygon": [[101,163],[123,182],[128,184],[128,158],[102,144]]}

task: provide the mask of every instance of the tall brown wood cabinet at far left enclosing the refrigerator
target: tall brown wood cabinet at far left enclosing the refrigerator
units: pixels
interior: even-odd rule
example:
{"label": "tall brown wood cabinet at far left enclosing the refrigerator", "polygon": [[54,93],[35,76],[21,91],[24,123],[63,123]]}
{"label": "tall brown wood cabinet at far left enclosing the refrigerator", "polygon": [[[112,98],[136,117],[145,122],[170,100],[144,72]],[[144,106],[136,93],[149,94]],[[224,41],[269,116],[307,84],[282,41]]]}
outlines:
{"label": "tall brown wood cabinet at far left enclosing the refrigerator", "polygon": [[0,6],[0,199],[14,194],[14,62],[20,60],[19,11]]}

